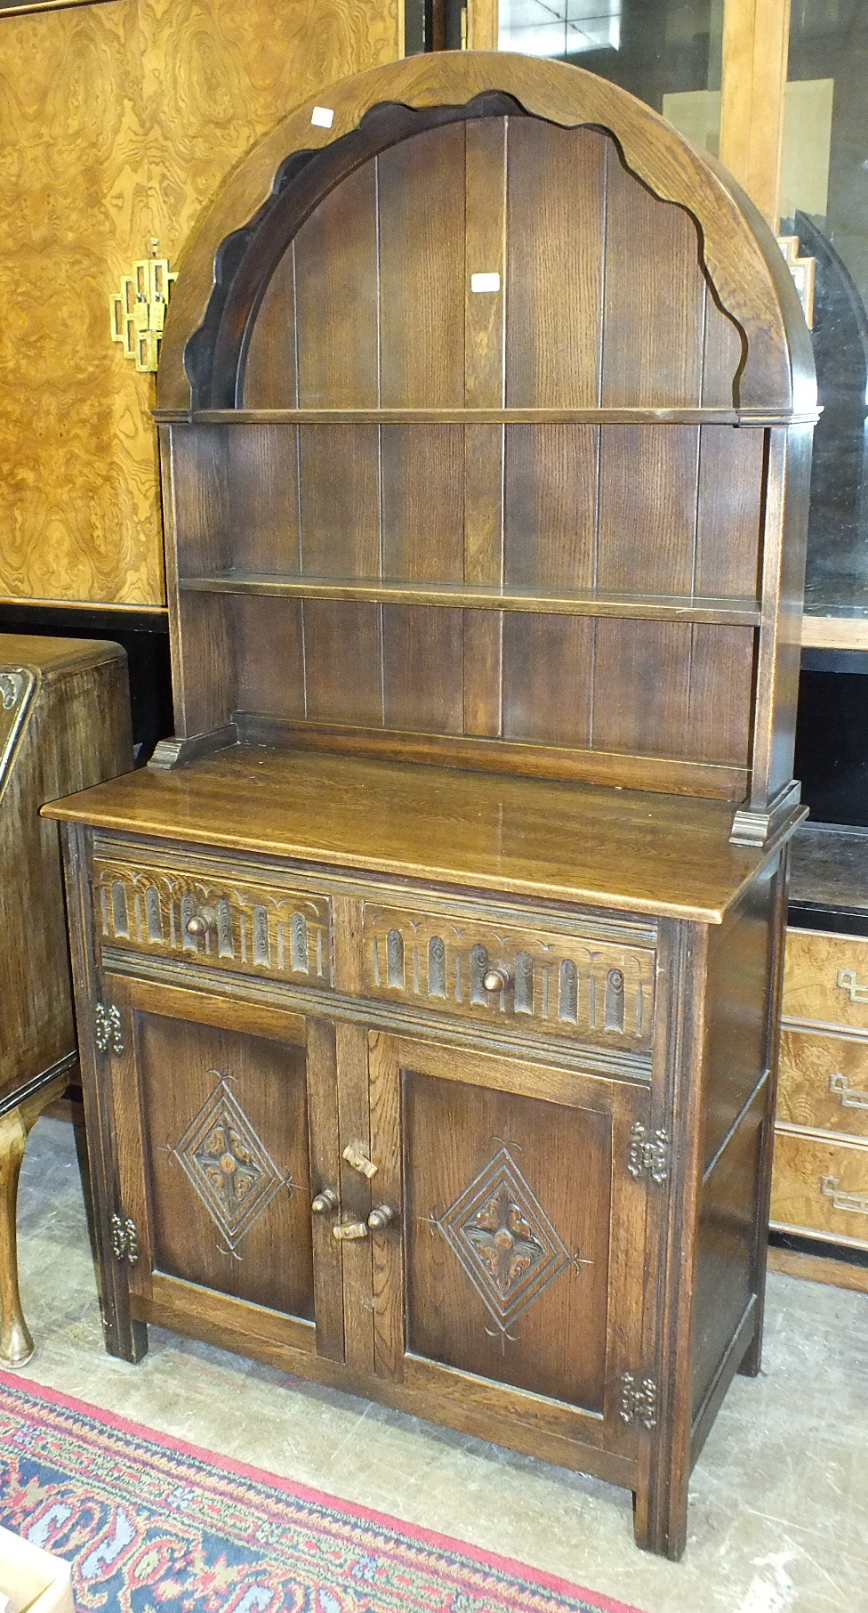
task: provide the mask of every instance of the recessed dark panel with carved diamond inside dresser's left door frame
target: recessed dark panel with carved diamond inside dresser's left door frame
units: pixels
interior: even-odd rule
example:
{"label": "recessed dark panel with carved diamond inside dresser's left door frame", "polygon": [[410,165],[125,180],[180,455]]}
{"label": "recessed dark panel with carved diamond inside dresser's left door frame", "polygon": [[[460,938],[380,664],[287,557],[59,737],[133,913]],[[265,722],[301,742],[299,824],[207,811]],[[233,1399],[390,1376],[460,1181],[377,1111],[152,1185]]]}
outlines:
{"label": "recessed dark panel with carved diamond inside dresser's left door frame", "polygon": [[311,1319],[304,1050],[135,1018],[155,1271]]}

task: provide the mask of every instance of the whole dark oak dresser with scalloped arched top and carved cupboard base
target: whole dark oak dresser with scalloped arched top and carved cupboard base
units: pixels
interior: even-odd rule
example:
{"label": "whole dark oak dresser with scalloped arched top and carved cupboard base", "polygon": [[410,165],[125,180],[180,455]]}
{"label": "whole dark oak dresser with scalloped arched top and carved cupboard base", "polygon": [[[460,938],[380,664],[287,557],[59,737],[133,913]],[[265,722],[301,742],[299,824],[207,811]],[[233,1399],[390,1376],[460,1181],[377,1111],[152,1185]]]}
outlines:
{"label": "whole dark oak dresser with scalloped arched top and carved cupboard base", "polygon": [[256,147],[159,374],[177,736],[63,803],[108,1348],[219,1340],[636,1495],[760,1360],[810,348],[578,69]]}

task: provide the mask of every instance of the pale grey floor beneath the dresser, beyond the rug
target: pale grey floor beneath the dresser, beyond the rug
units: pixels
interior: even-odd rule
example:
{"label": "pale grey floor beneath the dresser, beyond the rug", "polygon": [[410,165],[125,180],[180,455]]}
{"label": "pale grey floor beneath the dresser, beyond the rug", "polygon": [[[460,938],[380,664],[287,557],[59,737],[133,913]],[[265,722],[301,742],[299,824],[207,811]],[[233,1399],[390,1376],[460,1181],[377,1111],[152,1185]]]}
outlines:
{"label": "pale grey floor beneath the dresser, beyond the rug", "polygon": [[736,1378],[691,1484],[681,1563],[638,1552],[626,1492],[151,1329],[110,1360],[72,1131],[21,1184],[37,1382],[472,1540],[646,1613],[868,1613],[868,1295],[770,1279],[763,1373]]}

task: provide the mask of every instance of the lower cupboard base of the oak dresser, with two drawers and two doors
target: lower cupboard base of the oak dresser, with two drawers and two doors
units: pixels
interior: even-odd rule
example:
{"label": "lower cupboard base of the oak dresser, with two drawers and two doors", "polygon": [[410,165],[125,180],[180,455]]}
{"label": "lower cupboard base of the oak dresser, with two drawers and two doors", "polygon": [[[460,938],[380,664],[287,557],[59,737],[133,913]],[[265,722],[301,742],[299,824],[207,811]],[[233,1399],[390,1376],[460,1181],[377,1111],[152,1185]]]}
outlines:
{"label": "lower cupboard base of the oak dresser, with two drawers and two doors", "polygon": [[[720,923],[678,919],[142,836],[118,802],[153,777],[64,824],[108,1348],[158,1323],[594,1473],[678,1557],[760,1358],[784,855],[744,853]],[[190,823],[195,768],[184,795]],[[192,890],[262,892],[259,963],[238,908],[235,955],[205,948]]]}

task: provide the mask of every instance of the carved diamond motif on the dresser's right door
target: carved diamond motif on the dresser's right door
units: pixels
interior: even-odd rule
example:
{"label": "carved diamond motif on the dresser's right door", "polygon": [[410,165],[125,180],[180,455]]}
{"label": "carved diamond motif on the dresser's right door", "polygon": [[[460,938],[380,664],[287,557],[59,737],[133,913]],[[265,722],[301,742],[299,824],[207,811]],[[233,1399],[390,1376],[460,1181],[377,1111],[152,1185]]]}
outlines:
{"label": "carved diamond motif on the dresser's right door", "polygon": [[573,1265],[509,1148],[494,1155],[436,1226],[501,1332]]}

